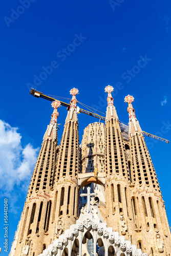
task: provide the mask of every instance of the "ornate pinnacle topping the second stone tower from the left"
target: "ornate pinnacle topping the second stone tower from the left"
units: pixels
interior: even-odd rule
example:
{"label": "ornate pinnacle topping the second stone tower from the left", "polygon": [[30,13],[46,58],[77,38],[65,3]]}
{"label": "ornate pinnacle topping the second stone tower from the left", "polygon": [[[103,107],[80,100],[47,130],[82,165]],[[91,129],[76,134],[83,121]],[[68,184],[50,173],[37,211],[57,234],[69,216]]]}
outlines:
{"label": "ornate pinnacle topping the second stone tower from the left", "polygon": [[77,106],[76,106],[77,99],[76,99],[75,95],[79,94],[79,91],[78,91],[78,89],[73,88],[70,90],[70,94],[72,95],[72,99],[70,101],[70,110],[68,112],[65,125],[69,121],[74,121],[75,123],[78,123]]}

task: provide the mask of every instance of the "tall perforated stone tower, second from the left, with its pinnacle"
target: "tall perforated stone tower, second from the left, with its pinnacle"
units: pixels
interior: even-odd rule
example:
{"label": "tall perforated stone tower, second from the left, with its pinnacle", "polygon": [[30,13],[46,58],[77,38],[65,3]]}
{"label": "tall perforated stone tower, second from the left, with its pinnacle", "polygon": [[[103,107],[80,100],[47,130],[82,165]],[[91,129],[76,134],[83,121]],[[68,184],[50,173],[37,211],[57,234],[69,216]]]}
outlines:
{"label": "tall perforated stone tower, second from the left, with its pinnacle", "polygon": [[67,114],[63,134],[56,154],[54,174],[55,211],[53,221],[63,223],[62,232],[75,224],[78,215],[78,172],[80,165],[80,148],[76,97],[78,89],[70,91],[72,99]]}

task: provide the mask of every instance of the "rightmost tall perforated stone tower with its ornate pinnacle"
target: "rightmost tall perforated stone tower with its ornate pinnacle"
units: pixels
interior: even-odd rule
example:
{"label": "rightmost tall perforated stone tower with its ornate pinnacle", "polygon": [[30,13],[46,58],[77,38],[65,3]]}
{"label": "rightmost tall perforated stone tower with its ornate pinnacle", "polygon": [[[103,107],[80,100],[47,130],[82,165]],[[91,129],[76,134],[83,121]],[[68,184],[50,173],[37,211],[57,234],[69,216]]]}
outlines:
{"label": "rightmost tall perforated stone tower with its ornate pinnacle", "polygon": [[145,144],[141,127],[135,116],[133,96],[129,103],[129,146],[131,161],[129,201],[133,212],[132,242],[148,255],[170,255],[170,230],[156,172]]}

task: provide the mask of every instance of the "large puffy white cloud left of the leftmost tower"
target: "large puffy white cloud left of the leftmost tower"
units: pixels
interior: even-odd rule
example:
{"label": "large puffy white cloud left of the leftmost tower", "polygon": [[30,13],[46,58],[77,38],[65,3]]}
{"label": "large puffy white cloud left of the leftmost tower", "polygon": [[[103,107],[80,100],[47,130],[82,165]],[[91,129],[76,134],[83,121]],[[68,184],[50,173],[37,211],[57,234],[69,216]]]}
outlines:
{"label": "large puffy white cloud left of the leftmost tower", "polygon": [[[37,159],[38,148],[22,146],[22,136],[16,127],[0,120],[0,189],[1,196],[19,195],[27,191]],[[25,191],[24,191],[25,190]]]}

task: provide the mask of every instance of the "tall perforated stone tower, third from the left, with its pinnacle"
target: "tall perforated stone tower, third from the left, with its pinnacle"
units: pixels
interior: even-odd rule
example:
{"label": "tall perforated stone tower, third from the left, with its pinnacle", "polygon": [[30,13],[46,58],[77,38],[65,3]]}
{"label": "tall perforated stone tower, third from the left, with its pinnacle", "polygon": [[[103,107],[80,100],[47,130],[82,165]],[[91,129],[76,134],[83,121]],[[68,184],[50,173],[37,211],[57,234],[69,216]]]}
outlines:
{"label": "tall perforated stone tower, third from the left, with its pinnacle", "polygon": [[[130,173],[119,119],[113,103],[113,87],[105,88],[108,106],[105,118],[105,196],[108,226],[131,239]],[[124,223],[124,225],[122,224]]]}

